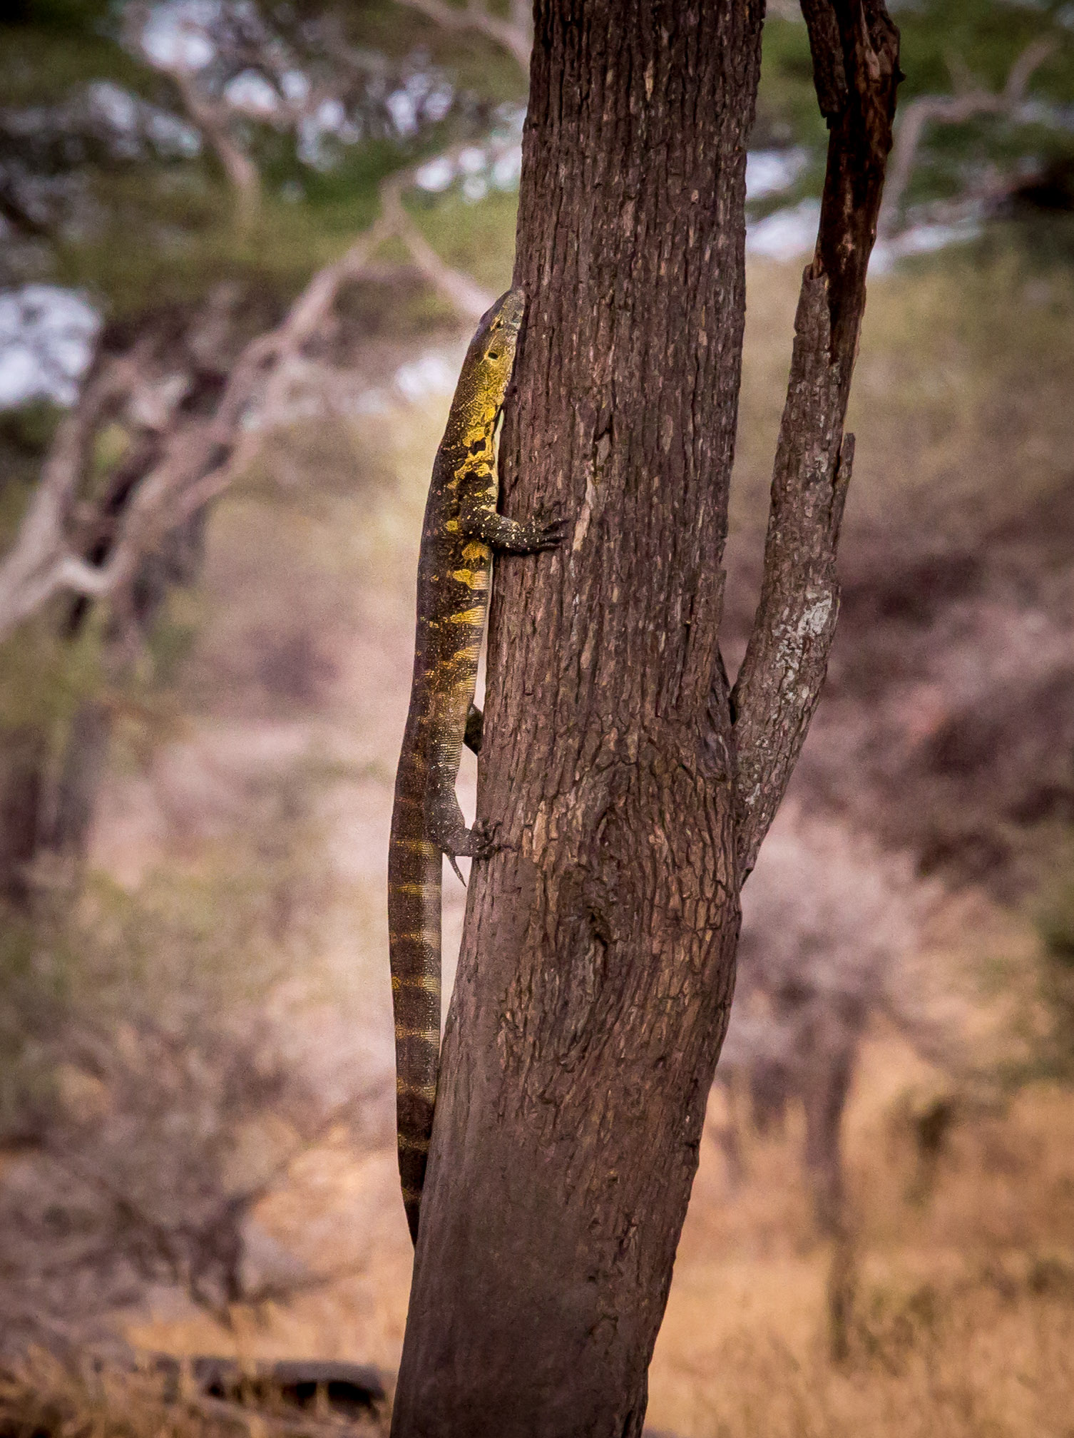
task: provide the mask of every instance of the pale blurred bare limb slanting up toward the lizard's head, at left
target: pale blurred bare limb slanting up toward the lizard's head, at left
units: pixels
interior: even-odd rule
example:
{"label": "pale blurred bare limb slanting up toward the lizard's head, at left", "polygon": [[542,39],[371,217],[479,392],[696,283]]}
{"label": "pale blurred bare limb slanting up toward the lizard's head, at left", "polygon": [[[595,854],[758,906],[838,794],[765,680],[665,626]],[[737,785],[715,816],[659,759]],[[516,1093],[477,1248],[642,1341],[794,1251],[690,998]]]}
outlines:
{"label": "pale blurred bare limb slanting up toward the lizard's head, at left", "polygon": [[[75,525],[70,510],[105,413],[129,403],[138,391],[137,352],[112,361],[89,383],[60,423],[42,482],[0,562],[0,640],[59,592],[115,598],[168,532],[227,489],[260,443],[257,433],[244,427],[250,410],[273,413],[279,406],[292,361],[323,326],[339,290],[368,273],[385,240],[401,240],[420,273],[467,322],[487,309],[493,296],[444,263],[414,226],[401,200],[410,183],[413,171],[390,177],[381,187],[380,219],[345,255],[313,275],[276,329],[247,344],[213,416],[173,417],[161,459],[111,525],[96,512],[79,515]],[[109,528],[112,539],[104,562],[92,562],[78,533],[101,528]]]}

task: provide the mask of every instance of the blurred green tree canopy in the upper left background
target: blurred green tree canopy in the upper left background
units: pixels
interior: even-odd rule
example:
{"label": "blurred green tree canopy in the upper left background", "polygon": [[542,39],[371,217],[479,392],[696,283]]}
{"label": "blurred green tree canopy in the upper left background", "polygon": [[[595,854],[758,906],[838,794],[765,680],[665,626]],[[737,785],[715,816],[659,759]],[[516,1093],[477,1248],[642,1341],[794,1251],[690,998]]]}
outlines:
{"label": "blurred green tree canopy in the upper left background", "polygon": [[[145,142],[124,151],[104,144],[92,127],[79,129],[81,121],[63,118],[65,106],[78,108],[88,86],[101,81],[185,118],[171,79],[122,43],[122,4],[104,0],[24,0],[0,26],[6,104],[13,112],[33,106],[42,116],[33,155],[17,138],[22,131],[3,144],[16,165],[29,162],[53,183],[70,181],[65,203],[73,206],[46,244],[20,252],[22,272],[14,273],[79,286],[109,316],[197,302],[221,280],[239,280],[286,302],[371,223],[385,175],[451,139],[483,132],[492,108],[503,99],[518,102],[525,88],[515,62],[495,46],[430,27],[391,0],[275,7],[272,23],[308,55],[313,76],[318,65],[331,68],[338,60],[331,47],[318,52],[321,42],[311,40],[309,22],[331,22],[323,35],[336,33],[338,43],[357,56],[381,55],[388,68],[403,66],[400,73],[411,58],[421,65],[431,60],[463,101],[444,122],[423,127],[414,138],[371,132],[361,142],[331,142],[331,162],[316,165],[299,158],[292,129],[244,122],[242,142],[260,170],[263,203],[257,223],[243,233],[234,221],[234,196],[207,141],[200,154],[187,157],[160,154]],[[49,125],[59,127],[55,135]]]}

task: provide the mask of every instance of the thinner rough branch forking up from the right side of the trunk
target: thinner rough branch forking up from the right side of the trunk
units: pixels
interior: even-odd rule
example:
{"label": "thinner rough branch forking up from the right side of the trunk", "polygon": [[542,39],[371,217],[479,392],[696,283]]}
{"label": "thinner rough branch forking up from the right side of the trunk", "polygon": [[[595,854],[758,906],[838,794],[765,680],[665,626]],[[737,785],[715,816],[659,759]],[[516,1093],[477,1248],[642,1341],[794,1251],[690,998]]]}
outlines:
{"label": "thinner rough branch forking up from the right side of the trunk", "polygon": [[843,421],[901,79],[883,0],[804,0],[802,12],[831,134],[817,249],[795,316],[761,603],[732,692],[743,877],[805,742],[835,634],[835,549],[854,459]]}

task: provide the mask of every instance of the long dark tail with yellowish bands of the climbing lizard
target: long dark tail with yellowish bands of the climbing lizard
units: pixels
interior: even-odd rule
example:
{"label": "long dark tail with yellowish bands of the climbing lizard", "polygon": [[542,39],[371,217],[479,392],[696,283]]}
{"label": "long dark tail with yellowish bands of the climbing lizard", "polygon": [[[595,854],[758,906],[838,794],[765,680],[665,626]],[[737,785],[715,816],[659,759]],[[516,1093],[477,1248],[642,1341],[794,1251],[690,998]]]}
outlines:
{"label": "long dark tail with yellowish bands of the climbing lizard", "polygon": [[[388,946],[395,1009],[395,1135],[403,1204],[417,1242],[440,1063],[441,856],[424,837],[420,787],[400,771],[388,850]],[[411,797],[416,794],[416,797]]]}

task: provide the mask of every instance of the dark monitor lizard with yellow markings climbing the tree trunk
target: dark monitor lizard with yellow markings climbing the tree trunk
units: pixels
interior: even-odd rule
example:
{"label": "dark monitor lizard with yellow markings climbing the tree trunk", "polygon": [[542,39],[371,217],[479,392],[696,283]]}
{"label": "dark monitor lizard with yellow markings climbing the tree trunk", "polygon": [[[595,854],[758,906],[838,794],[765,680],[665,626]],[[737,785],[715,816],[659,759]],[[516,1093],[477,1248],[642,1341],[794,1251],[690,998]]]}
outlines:
{"label": "dark monitor lizard with yellow markings climbing the tree trunk", "polygon": [[454,792],[463,742],[474,751],[480,745],[473,692],[492,554],[551,549],[565,528],[562,521],[516,523],[496,513],[495,430],[523,312],[522,292],[509,289],[470,341],[421,526],[414,679],[388,850],[398,1158],[414,1242],[440,1060],[441,854],[459,873],[459,854],[482,858],[493,847],[466,827]]}

